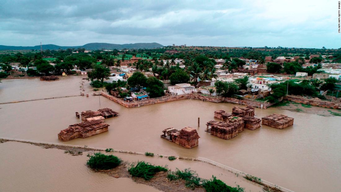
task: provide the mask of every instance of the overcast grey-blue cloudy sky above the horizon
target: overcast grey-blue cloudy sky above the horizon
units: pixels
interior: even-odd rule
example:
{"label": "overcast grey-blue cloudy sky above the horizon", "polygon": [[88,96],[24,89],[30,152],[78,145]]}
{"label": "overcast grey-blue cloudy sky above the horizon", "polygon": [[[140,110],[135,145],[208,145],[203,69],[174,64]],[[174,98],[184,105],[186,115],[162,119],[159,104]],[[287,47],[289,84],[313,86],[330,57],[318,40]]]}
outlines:
{"label": "overcast grey-blue cloudy sky above the horizon", "polygon": [[0,45],[340,48],[337,0],[1,0]]}

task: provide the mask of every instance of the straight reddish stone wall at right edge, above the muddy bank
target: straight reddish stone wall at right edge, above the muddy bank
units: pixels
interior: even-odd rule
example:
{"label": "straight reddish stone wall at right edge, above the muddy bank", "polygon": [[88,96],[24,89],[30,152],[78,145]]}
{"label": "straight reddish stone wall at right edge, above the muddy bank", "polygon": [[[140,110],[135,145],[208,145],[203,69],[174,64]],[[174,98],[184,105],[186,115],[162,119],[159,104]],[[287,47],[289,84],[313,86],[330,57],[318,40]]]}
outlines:
{"label": "straight reddish stone wall at right edge, above the muddy bank", "polygon": [[313,100],[313,99],[297,97],[297,96],[293,96],[293,95],[286,95],[286,96],[284,96],[283,100],[292,101],[295,103],[313,105],[313,106],[318,106],[318,107],[341,109],[341,103],[324,101],[324,100]]}

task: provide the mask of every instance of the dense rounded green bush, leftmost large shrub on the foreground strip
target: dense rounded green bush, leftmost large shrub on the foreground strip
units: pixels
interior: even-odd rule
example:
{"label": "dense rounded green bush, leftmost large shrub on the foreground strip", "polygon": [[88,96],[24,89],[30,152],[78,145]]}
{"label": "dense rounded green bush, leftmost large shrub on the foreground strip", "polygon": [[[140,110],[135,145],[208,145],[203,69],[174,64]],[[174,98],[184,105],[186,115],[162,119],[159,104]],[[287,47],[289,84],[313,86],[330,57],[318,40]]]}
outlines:
{"label": "dense rounded green bush, leftmost large shrub on the foreground strip", "polygon": [[94,156],[90,156],[87,162],[93,169],[112,169],[120,165],[122,160],[113,155],[105,155],[100,152],[94,153]]}

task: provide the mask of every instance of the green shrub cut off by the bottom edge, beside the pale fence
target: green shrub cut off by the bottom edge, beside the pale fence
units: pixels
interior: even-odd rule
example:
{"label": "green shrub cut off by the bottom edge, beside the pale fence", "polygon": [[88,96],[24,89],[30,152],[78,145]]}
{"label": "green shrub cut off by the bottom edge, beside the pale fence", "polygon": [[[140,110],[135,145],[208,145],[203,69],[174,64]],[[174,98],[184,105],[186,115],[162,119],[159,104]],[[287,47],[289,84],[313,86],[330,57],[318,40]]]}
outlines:
{"label": "green shrub cut off by the bottom edge, beside the pale fence", "polygon": [[243,192],[244,189],[239,186],[230,187],[227,186],[223,181],[212,176],[210,180],[205,180],[203,182],[203,187],[207,192]]}

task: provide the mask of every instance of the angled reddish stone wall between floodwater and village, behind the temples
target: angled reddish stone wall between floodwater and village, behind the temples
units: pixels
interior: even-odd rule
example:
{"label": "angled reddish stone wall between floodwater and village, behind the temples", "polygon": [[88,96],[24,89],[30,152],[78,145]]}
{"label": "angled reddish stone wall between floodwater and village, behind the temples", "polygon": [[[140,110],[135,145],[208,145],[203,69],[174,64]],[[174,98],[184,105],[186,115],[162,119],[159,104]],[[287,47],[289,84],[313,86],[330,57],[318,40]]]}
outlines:
{"label": "angled reddish stone wall between floodwater and village, behind the temples", "polygon": [[165,96],[165,97],[160,97],[160,98],[154,98],[154,99],[148,99],[148,100],[142,100],[142,101],[132,101],[132,102],[123,101],[105,92],[101,92],[101,95],[127,108],[139,107],[139,106],[151,105],[151,104],[157,104],[157,103],[164,103],[164,102],[169,102],[169,101],[177,101],[181,99],[198,99],[198,100],[209,101],[213,103],[221,103],[221,102],[235,103],[235,104],[240,104],[240,105],[251,105],[253,107],[264,108],[264,109],[273,105],[273,103],[269,103],[269,102],[257,102],[257,101],[247,100],[247,99],[237,99],[237,98],[228,98],[228,97],[226,98],[225,97],[211,97],[209,95],[201,95],[201,94],[195,94],[195,93]]}

